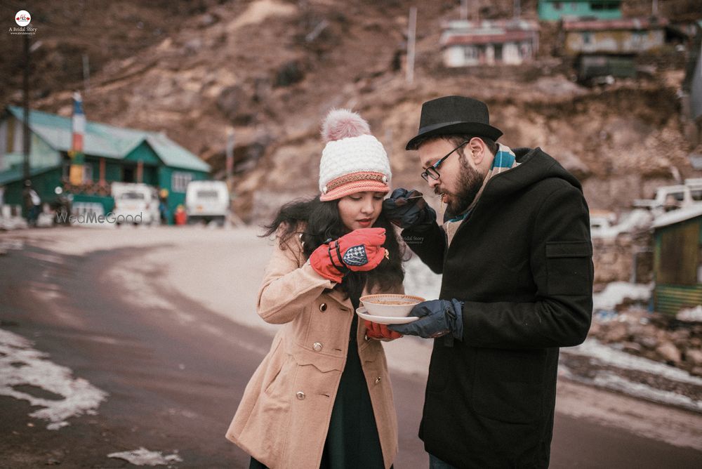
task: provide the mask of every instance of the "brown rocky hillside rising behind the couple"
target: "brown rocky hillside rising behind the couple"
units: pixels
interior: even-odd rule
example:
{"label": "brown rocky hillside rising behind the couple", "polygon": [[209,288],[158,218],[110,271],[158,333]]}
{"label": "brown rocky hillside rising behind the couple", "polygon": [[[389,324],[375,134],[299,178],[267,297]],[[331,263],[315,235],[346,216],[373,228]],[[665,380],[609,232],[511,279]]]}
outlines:
{"label": "brown rocky hillside rising behind the couple", "polygon": [[[88,119],[165,131],[222,176],[227,130],[236,138],[237,210],[267,216],[312,194],[331,107],[369,119],[390,153],[395,185],[422,187],[404,143],[420,105],[457,93],[485,100],[512,147],[541,146],[581,178],[592,208],[624,210],[677,175],[695,176],[682,136],[677,90],[684,53],[670,48],[637,81],[583,88],[569,60],[551,57],[545,27],[538,61],[524,67],[446,70],[437,42],[459,1],[419,2],[417,62],[405,79],[407,0],[46,1],[34,8],[32,107],[69,115],[84,86]],[[536,1],[523,16],[536,18]],[[689,19],[694,1],[659,2]],[[471,2],[470,14],[504,18],[512,0]],[[625,2],[647,14],[649,1]],[[13,6],[4,3],[3,18]],[[95,14],[99,13],[99,14]],[[551,39],[550,39],[551,38]],[[0,35],[0,104],[21,103],[21,39]]]}

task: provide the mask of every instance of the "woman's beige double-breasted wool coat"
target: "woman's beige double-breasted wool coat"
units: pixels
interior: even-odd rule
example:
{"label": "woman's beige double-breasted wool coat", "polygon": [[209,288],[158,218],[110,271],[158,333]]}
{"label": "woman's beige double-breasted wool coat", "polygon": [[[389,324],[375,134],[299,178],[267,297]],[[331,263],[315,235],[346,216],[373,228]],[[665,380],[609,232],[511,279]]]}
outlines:
{"label": "woman's beige double-breasted wool coat", "polygon": [[[299,236],[277,243],[257,312],[284,326],[246,385],[226,435],[269,468],[319,468],[355,314],[351,300],[333,286],[307,262]],[[362,321],[357,343],[387,469],[397,454],[388,365],[383,346],[366,338]]]}

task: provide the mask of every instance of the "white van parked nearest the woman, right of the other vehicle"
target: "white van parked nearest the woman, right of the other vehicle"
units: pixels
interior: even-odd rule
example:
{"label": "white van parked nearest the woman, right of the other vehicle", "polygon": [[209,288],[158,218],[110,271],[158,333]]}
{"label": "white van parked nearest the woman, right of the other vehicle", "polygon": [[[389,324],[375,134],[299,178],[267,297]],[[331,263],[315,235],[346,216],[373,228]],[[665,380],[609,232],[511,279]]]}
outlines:
{"label": "white van parked nearest the woman, right of the other vehicle", "polygon": [[227,183],[220,180],[194,180],[185,190],[187,223],[216,221],[224,226],[230,217]]}

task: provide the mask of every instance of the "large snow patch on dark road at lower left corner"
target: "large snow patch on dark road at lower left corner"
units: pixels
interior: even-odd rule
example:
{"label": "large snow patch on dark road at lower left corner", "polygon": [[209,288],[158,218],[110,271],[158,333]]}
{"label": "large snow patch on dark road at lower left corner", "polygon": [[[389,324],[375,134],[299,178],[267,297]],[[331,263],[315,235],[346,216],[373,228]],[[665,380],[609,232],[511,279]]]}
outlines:
{"label": "large snow patch on dark road at lower left corner", "polygon": [[[41,409],[29,414],[49,422],[49,430],[68,425],[67,418],[95,414],[104,392],[82,378],[73,378],[72,371],[55,364],[47,355],[32,348],[32,343],[22,336],[0,329],[0,395],[22,399]],[[40,388],[61,399],[36,397],[18,390],[22,386]]]}

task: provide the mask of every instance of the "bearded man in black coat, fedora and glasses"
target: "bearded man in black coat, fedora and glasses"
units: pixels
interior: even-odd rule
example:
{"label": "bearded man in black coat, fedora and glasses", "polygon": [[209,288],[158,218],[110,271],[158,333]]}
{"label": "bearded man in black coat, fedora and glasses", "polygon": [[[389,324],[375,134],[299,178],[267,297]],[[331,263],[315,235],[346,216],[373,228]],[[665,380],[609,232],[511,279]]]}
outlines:
{"label": "bearded man in black coat, fedora and glasses", "polygon": [[548,467],[558,350],[590,328],[581,185],[539,148],[496,143],[501,135],[478,100],[424,103],[407,150],[446,204],[444,223],[416,191],[397,189],[383,206],[443,274],[440,299],[413,308],[420,319],[389,326],[437,338],[419,430],[431,468]]}

